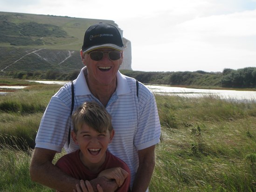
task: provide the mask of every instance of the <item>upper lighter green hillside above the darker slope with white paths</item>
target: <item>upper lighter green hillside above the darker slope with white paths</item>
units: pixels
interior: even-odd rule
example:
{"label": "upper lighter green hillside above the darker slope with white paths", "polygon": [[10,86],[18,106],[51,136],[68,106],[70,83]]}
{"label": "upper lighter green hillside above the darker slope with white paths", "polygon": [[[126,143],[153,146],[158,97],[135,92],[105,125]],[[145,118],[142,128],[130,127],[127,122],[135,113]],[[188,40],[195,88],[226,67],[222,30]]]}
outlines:
{"label": "upper lighter green hillside above the darker slope with white paths", "polygon": [[[97,22],[117,26],[110,20],[0,12],[0,47],[13,43],[19,48],[80,50],[84,31]],[[27,42],[22,43],[22,40]]]}

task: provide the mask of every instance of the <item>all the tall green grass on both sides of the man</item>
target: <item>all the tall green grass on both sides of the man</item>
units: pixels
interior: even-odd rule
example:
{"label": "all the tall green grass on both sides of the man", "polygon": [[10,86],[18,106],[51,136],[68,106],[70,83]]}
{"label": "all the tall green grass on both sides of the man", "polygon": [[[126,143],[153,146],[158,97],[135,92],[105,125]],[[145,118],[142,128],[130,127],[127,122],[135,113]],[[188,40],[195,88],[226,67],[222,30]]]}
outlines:
{"label": "all the tall green grass on both sides of the man", "polygon": [[[59,87],[31,85],[0,96],[0,191],[55,191],[30,180],[29,162],[43,110]],[[256,103],[156,101],[162,134],[150,192],[256,192]]]}

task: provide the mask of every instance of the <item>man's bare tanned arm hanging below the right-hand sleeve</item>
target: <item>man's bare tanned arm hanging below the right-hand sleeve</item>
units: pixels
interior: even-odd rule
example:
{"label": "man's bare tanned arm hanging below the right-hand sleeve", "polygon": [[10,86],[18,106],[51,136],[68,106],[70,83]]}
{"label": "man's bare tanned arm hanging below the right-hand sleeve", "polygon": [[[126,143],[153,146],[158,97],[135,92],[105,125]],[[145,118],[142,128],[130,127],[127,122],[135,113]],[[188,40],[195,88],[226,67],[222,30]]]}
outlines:
{"label": "man's bare tanned arm hanging below the right-hand sleeve", "polygon": [[139,165],[132,192],[145,192],[155,167],[155,145],[138,151]]}

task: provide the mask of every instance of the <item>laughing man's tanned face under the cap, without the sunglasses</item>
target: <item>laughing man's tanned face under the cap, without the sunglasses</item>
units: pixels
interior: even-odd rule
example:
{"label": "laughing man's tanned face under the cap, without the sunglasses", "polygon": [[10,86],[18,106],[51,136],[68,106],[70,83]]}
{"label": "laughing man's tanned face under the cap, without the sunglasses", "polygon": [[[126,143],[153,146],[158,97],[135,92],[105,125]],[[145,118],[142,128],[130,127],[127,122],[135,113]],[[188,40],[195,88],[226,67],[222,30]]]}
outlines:
{"label": "laughing man's tanned face under the cap, without the sunglasses", "polygon": [[[94,51],[109,52],[115,50],[112,48],[98,48]],[[109,85],[116,83],[116,75],[119,66],[123,62],[123,54],[121,54],[121,58],[118,60],[111,60],[108,54],[104,54],[103,58],[99,61],[91,59],[89,54],[84,54],[82,60],[84,65],[87,66],[89,81]]]}

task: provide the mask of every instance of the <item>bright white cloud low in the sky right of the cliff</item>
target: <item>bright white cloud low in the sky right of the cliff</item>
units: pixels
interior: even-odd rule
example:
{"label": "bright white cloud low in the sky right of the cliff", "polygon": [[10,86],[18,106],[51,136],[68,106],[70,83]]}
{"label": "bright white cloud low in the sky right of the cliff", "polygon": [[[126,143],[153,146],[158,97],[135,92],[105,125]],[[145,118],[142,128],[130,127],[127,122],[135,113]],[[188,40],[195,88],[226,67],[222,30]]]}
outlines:
{"label": "bright white cloud low in the sky right of the cliff", "polygon": [[132,47],[133,52],[140,53],[140,56],[133,55],[132,68],[147,71],[222,71],[225,68],[254,66],[255,23],[256,10],[184,18],[177,24],[173,22],[154,36],[161,40],[159,44],[152,43],[151,38],[146,45]]}

